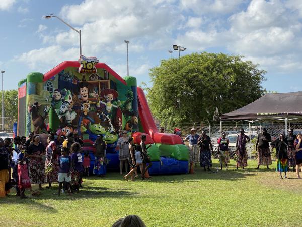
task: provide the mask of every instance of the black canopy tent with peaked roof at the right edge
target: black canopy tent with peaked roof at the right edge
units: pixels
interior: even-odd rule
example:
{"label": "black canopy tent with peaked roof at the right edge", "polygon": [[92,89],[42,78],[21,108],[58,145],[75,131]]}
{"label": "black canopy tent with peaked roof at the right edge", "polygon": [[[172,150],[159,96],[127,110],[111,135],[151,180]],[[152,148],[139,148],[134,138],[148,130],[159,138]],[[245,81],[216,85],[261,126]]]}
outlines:
{"label": "black canopy tent with peaked roof at the right edge", "polygon": [[[220,129],[223,121],[287,121],[302,118],[302,92],[265,94],[256,101],[220,117]],[[221,130],[220,130],[221,131]]]}

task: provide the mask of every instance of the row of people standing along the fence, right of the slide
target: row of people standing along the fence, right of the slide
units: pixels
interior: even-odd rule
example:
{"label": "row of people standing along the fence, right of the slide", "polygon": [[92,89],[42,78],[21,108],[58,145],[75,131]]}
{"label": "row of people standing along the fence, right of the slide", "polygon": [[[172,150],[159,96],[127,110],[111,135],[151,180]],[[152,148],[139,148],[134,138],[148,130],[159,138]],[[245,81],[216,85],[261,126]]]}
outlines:
{"label": "row of people standing along the fence, right of the slide", "polygon": [[[197,130],[192,128],[190,134],[186,136],[185,140],[189,142],[189,162],[190,165],[197,165],[200,162],[200,166],[211,170],[213,155],[213,146],[211,139],[206,135],[205,131],[201,132],[201,135],[196,134]],[[248,153],[246,149],[246,143],[250,141],[250,138],[245,134],[244,129],[240,130],[236,140],[236,168],[244,169],[248,165]],[[226,132],[221,133],[221,137],[217,140],[218,144],[218,157],[220,163],[220,169],[222,170],[223,164],[228,169],[228,163],[230,163],[229,154],[229,140],[226,137]],[[276,149],[277,167],[276,171],[280,172],[280,178],[282,179],[282,173],[284,172],[284,178],[288,178],[286,172],[289,167],[293,167],[296,171],[297,178],[300,179],[300,167],[302,164],[302,134],[293,134],[293,129],[288,130],[288,134],[282,131],[279,133],[279,137],[272,141],[270,134],[266,128],[262,128],[261,133],[257,136],[256,150],[257,161],[259,169],[261,165],[266,166],[269,169],[269,165],[272,164],[270,145]]]}

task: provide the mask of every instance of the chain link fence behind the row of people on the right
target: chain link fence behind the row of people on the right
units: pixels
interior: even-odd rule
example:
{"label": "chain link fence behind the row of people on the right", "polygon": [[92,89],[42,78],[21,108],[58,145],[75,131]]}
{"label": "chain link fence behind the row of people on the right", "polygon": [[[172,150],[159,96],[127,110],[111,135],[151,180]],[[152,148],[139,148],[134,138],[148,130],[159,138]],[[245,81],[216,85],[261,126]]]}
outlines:
{"label": "chain link fence behind the row of people on the right", "polygon": [[[197,130],[197,134],[201,135],[202,130],[206,132],[206,134],[211,138],[211,143],[214,149],[214,158],[218,158],[218,144],[217,140],[221,136],[221,131],[226,132],[226,135],[229,139],[229,151],[230,151],[230,158],[235,159],[236,153],[236,140],[237,135],[240,132],[240,129],[243,128],[245,130],[245,134],[251,138],[251,141],[246,144],[246,149],[248,152],[249,159],[257,159],[257,152],[256,152],[256,142],[257,142],[257,134],[261,132],[261,128],[266,128],[268,133],[271,135],[272,140],[275,139],[280,131],[285,132],[285,123],[284,122],[254,122],[251,123],[251,126],[248,122],[222,122],[222,127],[220,130],[220,122],[213,121],[213,122],[195,122],[195,123],[182,123],[178,125],[171,125],[165,122],[160,122],[160,127],[164,127],[166,133],[173,133],[175,128],[180,128],[182,131],[182,136],[185,139],[187,135],[190,134],[190,130],[195,128]],[[302,122],[290,122],[287,123],[287,129],[293,129],[294,134],[301,133],[302,131]],[[185,142],[188,146],[188,142]],[[272,159],[275,159],[275,149],[272,147],[271,155]]]}

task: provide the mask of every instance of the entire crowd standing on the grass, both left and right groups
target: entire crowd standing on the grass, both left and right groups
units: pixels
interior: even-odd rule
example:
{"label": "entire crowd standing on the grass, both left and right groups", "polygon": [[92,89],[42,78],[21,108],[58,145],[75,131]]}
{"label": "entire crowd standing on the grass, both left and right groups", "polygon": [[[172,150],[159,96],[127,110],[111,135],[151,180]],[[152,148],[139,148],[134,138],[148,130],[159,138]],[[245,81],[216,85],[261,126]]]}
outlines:
{"label": "entire crowd standing on the grass, both left and right groups", "polygon": [[[191,168],[198,162],[204,168],[204,171],[210,171],[212,167],[213,146],[211,138],[205,131],[201,135],[196,134],[197,130],[192,128],[190,134],[185,137],[189,142],[189,162]],[[181,137],[181,130],[175,129],[174,134]],[[245,134],[243,129],[237,136],[236,141],[236,168],[245,168],[248,165],[248,154],[246,143],[250,138]],[[133,138],[128,137],[127,131],[122,132],[122,137],[117,141],[119,148],[120,174],[123,175],[125,169],[126,181],[130,178],[134,181],[137,174],[137,168],[140,167],[141,179],[150,178],[148,168],[152,166],[148,156],[146,146],[146,136],[141,135],[141,143],[135,146]],[[48,183],[47,189],[52,188],[52,183],[59,183],[58,195],[61,191],[80,192],[83,176],[89,176],[90,156],[84,152],[82,156],[81,146],[83,141],[79,138],[77,130],[73,133],[68,132],[66,138],[59,137],[55,140],[54,133],[49,133],[47,146],[40,142],[40,135],[29,134],[29,139],[25,136],[15,137],[12,141],[10,138],[4,140],[0,138],[0,197],[4,197],[9,192],[12,185],[15,185],[17,196],[25,198],[25,190],[31,190],[31,184],[38,184],[39,190],[43,190],[42,184]],[[230,163],[229,139],[226,133],[222,132],[221,137],[217,140],[218,157],[220,169],[223,164],[228,169]],[[13,146],[15,145],[15,146]],[[272,140],[270,134],[265,128],[262,128],[258,134],[256,150],[258,153],[258,166],[264,165],[266,168],[272,164],[270,145],[276,149],[277,167],[280,172],[280,178],[288,178],[286,172],[289,167],[296,171],[297,178],[300,179],[300,166],[302,164],[302,134],[293,134],[289,129],[288,134],[280,132],[278,138]],[[104,177],[106,174],[106,141],[100,134],[93,143],[95,148],[95,162],[93,167],[94,175]],[[13,150],[17,157],[13,159]],[[128,164],[130,171],[128,172]],[[35,193],[34,191],[32,193]]]}

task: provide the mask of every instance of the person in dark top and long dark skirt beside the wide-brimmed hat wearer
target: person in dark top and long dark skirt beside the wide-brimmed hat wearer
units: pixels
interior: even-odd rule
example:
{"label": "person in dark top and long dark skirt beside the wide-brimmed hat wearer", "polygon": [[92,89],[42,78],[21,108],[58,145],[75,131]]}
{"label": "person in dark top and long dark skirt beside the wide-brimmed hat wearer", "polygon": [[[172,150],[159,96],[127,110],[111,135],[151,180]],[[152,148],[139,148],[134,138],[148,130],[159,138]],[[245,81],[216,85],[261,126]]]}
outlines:
{"label": "person in dark top and long dark skirt beside the wide-brimmed hat wearer", "polygon": [[[211,170],[212,167],[212,158],[211,158],[211,151],[213,151],[213,146],[211,143],[211,138],[206,135],[205,131],[201,132],[201,136],[198,138],[198,145],[200,145],[200,166],[206,170],[206,166],[208,170]],[[211,147],[211,150],[210,150]]]}

